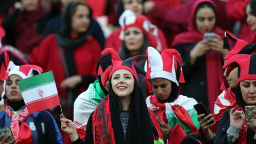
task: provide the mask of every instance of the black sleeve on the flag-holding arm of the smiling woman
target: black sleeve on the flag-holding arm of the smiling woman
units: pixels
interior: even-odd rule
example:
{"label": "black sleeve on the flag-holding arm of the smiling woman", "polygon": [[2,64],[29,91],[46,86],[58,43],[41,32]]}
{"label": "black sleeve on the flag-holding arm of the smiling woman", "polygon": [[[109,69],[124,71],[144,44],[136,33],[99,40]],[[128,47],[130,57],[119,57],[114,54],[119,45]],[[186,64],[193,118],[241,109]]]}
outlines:
{"label": "black sleeve on the flag-holding arm of the smiling woman", "polygon": [[73,144],[82,144],[82,143],[91,144],[91,143],[93,143],[93,134],[92,134],[92,115],[93,115],[93,113],[94,113],[94,111],[90,115],[88,122],[87,122],[84,142],[78,137],[78,139],[76,141],[72,142]]}

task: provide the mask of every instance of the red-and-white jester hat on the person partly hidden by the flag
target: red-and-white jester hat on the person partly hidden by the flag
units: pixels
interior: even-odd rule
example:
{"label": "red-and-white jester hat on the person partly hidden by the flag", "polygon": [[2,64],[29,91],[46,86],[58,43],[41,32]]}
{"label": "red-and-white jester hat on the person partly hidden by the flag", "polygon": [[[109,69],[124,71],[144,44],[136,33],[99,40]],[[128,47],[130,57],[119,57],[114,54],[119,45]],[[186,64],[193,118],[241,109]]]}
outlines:
{"label": "red-and-white jester hat on the person partly hidden by the flag", "polygon": [[36,70],[39,74],[43,72],[43,69],[36,65],[22,65],[22,66],[16,66],[12,61],[9,62],[8,68],[6,70],[5,76],[4,76],[4,91],[2,93],[2,100],[1,103],[3,104],[3,97],[5,95],[5,86],[6,86],[6,80],[11,75],[18,75],[22,79],[28,78],[33,76],[33,70]]}

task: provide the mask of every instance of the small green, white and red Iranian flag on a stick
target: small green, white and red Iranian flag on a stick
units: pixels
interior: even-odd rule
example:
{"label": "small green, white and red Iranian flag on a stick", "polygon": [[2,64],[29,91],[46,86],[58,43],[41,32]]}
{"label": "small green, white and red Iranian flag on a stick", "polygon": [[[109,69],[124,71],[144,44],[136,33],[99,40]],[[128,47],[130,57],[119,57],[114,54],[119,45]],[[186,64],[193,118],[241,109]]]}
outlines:
{"label": "small green, white and red Iranian flag on a stick", "polygon": [[52,71],[23,79],[18,85],[29,114],[60,105]]}

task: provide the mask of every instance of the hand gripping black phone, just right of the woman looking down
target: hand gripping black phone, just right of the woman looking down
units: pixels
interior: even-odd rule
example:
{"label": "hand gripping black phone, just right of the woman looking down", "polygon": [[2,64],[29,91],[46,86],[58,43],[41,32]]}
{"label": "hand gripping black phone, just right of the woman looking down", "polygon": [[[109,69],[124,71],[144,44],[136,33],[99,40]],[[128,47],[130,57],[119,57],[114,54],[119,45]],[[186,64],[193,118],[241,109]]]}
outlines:
{"label": "hand gripping black phone, just right of the woman looking down", "polygon": [[[207,141],[212,140],[214,137],[214,134],[210,130],[210,127],[215,124],[214,117],[212,116],[212,114],[209,114],[207,116],[205,116],[205,114],[200,114],[200,115],[198,115],[197,119],[198,119],[199,124],[201,125],[205,139]],[[214,123],[211,123],[212,121]]]}

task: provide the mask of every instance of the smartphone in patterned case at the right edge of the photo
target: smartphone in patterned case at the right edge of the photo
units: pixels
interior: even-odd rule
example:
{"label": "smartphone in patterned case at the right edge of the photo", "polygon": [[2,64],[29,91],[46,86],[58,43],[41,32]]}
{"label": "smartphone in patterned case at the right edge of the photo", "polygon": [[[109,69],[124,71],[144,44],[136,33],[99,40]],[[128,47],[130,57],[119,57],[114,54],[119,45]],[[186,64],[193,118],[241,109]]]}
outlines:
{"label": "smartphone in patterned case at the right edge of the photo", "polygon": [[253,121],[256,121],[256,106],[245,106],[245,121],[246,125],[250,126]]}

